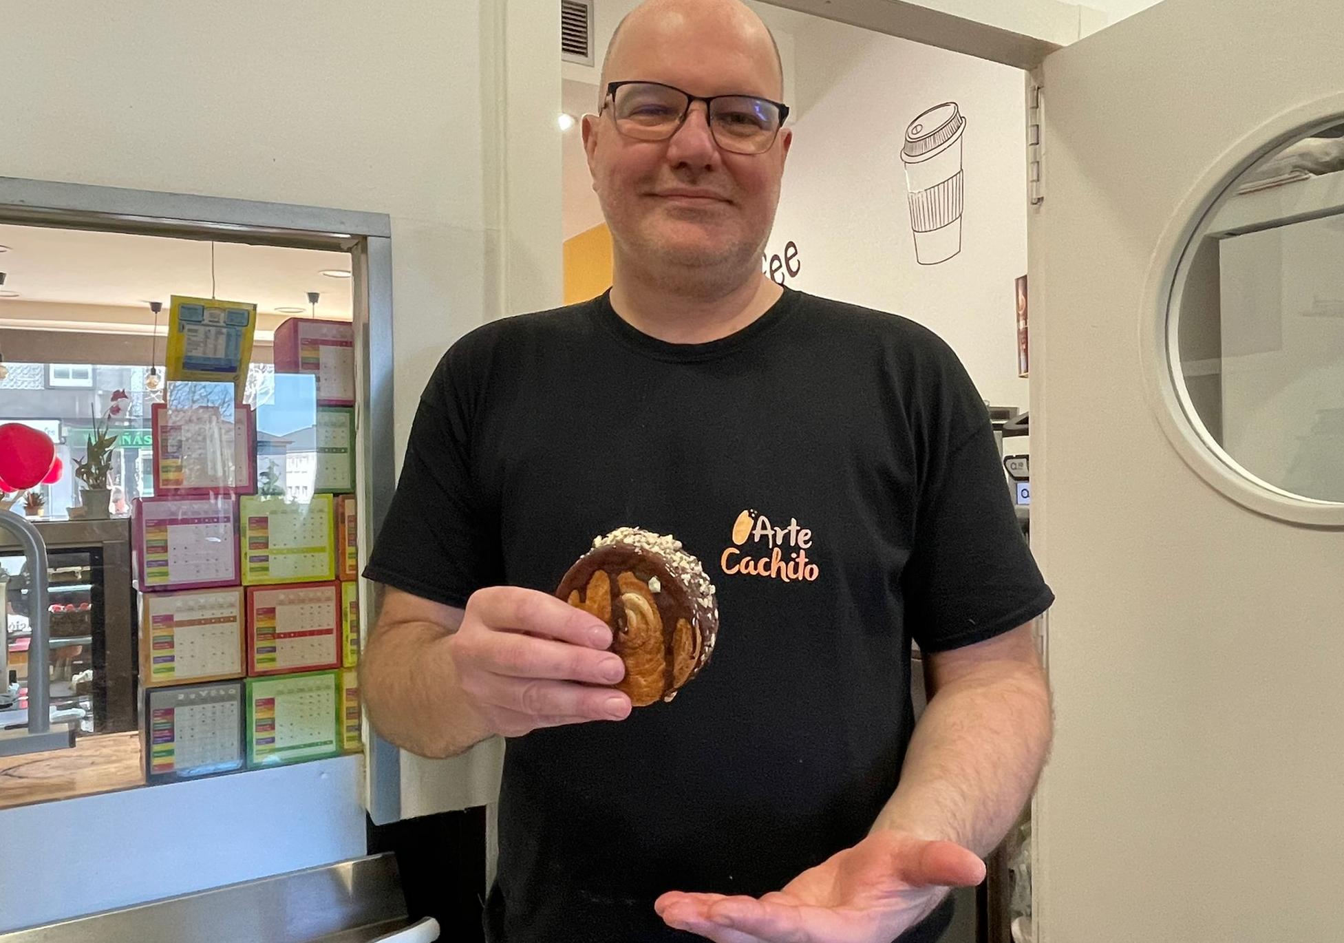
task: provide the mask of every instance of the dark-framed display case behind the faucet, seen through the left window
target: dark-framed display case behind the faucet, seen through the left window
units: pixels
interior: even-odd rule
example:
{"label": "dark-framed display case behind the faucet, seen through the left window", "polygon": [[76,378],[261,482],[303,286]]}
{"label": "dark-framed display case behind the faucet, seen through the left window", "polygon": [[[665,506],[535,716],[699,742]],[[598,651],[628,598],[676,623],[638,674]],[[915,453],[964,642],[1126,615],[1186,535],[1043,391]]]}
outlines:
{"label": "dark-framed display case behind the faucet, seen through the left window", "polygon": [[[130,527],[126,519],[38,521],[47,543],[51,626],[51,705],[77,718],[81,734],[134,730],[136,619],[130,588]],[[23,552],[0,531],[4,646],[20,698],[9,713],[27,710],[30,584]],[[9,718],[12,720],[12,718]],[[0,724],[9,725],[4,713]]]}

